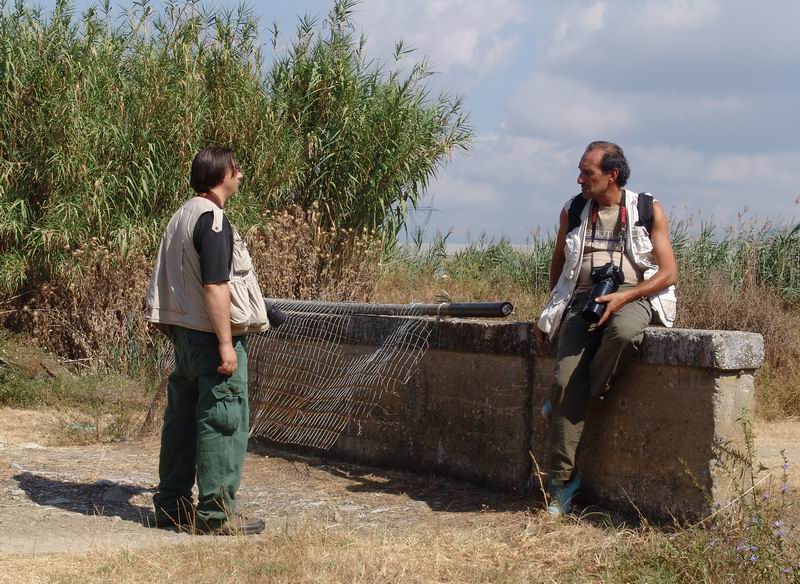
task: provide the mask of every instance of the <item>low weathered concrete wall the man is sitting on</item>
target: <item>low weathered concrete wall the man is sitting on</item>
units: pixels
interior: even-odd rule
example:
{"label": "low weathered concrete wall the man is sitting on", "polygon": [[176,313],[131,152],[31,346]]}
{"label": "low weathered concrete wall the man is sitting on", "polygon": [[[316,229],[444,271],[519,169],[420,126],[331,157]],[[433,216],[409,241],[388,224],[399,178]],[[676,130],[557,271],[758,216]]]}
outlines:
{"label": "low weathered concrete wall the man is sitting on", "polygon": [[[356,316],[352,354],[380,344],[392,317]],[[409,383],[372,415],[352,421],[335,458],[434,472],[509,490],[546,471],[555,359],[528,323],[427,319],[430,348]],[[651,328],[612,393],[589,412],[578,466],[583,492],[650,517],[692,518],[725,488],[714,473],[716,441],[741,440],[752,410],[760,335]]]}

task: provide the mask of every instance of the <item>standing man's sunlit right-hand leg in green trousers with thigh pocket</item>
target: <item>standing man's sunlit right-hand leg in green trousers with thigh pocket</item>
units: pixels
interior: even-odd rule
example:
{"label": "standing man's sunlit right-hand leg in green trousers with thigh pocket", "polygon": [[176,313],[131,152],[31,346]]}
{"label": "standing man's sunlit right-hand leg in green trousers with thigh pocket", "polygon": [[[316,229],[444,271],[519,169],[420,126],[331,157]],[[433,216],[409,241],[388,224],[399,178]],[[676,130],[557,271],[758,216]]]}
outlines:
{"label": "standing man's sunlit right-hand leg in green trousers with thigh pocket", "polygon": [[[234,517],[249,435],[247,352],[243,337],[234,339],[238,359],[230,377],[216,371],[198,377],[197,524],[215,529]],[[215,347],[216,351],[216,347]],[[219,362],[217,351],[216,361]]]}

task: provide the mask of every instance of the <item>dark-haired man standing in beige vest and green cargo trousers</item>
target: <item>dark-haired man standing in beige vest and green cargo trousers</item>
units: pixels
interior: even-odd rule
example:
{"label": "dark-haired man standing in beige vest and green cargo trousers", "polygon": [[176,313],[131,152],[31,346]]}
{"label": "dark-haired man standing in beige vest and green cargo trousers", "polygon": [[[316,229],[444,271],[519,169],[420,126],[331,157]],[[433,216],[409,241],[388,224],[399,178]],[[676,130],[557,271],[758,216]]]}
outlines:
{"label": "dark-haired man standing in beige vest and green cargo trousers", "polygon": [[195,156],[196,196],[167,225],[147,290],[147,320],[175,349],[153,497],[158,527],[219,535],[264,529],[261,519],[236,514],[250,415],[244,335],[269,327],[250,255],[223,212],[241,180],[230,148]]}

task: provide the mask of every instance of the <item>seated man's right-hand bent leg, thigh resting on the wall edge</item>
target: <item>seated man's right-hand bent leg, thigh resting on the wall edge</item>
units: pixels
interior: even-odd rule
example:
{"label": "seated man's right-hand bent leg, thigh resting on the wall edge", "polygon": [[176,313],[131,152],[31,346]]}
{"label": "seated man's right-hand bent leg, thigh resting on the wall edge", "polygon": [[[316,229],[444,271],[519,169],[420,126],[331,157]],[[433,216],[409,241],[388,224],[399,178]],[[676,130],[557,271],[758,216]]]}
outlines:
{"label": "seated man's right-hand bent leg, thigh resting on the wall edge", "polygon": [[652,315],[650,302],[640,298],[623,306],[603,327],[600,346],[589,366],[592,397],[608,391],[619,367],[638,349]]}

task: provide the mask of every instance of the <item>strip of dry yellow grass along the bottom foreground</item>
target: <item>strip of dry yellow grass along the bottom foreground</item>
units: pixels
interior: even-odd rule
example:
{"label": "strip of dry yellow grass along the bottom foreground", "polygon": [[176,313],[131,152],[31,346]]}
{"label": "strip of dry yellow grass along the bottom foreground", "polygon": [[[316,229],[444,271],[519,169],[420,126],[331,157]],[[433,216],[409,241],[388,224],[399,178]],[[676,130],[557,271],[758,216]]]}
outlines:
{"label": "strip of dry yellow grass along the bottom foreground", "polygon": [[301,520],[253,539],[28,559],[6,575],[64,583],[585,582],[599,579],[597,554],[633,534],[528,514],[482,515],[472,529],[421,526],[402,533],[324,529]]}

